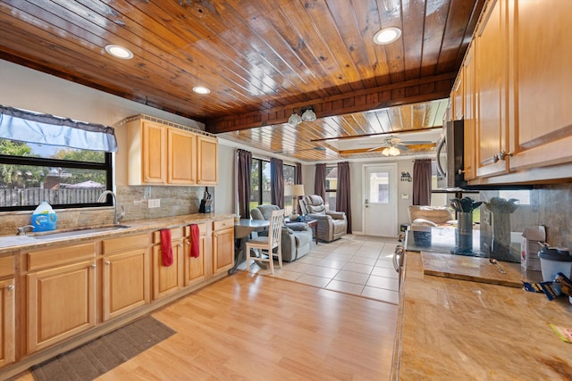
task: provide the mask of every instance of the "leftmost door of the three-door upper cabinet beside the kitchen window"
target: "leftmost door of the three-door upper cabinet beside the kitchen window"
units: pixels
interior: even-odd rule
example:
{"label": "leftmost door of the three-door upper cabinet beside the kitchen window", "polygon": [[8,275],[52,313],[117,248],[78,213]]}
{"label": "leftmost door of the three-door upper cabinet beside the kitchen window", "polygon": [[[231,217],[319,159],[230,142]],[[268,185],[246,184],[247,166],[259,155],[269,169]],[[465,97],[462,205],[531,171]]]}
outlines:
{"label": "leftmost door of the three-door upper cabinet beside the kitchen window", "polygon": [[164,184],[166,162],[165,128],[143,121],[141,139],[142,183]]}

